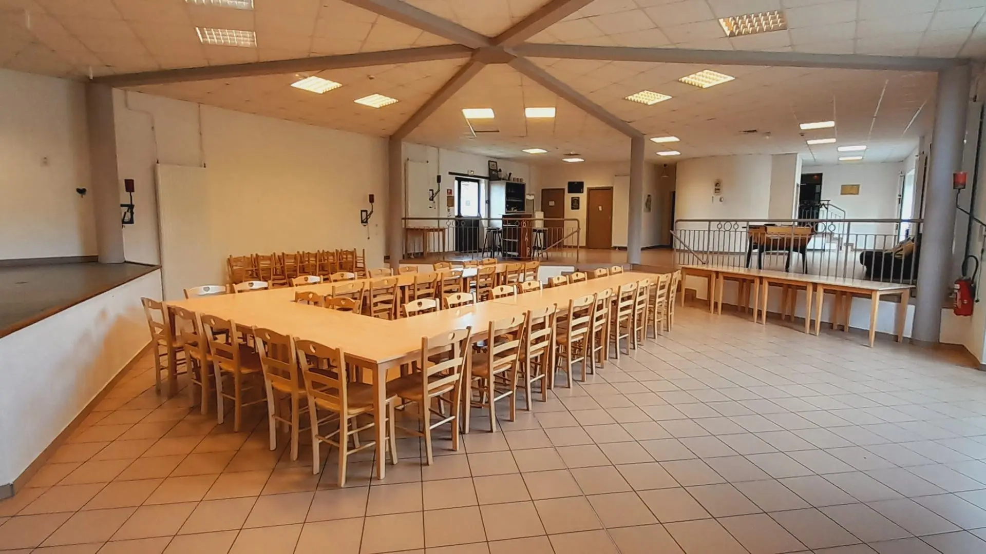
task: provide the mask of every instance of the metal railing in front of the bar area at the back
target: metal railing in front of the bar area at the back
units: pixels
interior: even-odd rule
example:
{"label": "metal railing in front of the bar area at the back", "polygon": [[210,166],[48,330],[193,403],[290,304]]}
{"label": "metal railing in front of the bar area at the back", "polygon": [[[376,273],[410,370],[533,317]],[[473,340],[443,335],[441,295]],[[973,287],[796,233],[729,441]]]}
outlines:
{"label": "metal railing in front of the bar area at the back", "polygon": [[577,219],[403,218],[403,258],[421,261],[484,257],[578,262]]}

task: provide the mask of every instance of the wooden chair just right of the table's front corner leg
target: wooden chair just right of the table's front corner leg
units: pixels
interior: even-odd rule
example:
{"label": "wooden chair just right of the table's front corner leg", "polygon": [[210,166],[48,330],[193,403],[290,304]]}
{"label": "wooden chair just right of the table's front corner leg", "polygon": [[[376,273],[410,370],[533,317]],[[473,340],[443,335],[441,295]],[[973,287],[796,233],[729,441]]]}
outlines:
{"label": "wooden chair just right of the table's front corner leg", "polygon": [[[428,464],[434,463],[432,430],[452,424],[452,450],[458,451],[458,422],[461,409],[461,378],[468,360],[469,336],[466,327],[433,337],[421,338],[421,358],[418,370],[410,375],[387,382],[387,394],[395,394],[406,402],[416,402],[422,416],[421,430],[403,429],[406,433],[424,437]],[[436,411],[432,404],[438,405]],[[445,409],[448,408],[449,415]],[[432,416],[438,421],[433,422]]]}

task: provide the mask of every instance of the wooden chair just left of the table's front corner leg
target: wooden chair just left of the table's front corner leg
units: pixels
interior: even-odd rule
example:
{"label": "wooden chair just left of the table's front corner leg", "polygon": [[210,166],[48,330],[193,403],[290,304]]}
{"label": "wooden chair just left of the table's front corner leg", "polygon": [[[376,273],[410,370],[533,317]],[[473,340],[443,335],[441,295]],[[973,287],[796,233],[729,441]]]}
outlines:
{"label": "wooden chair just left of the table's front corner leg", "polygon": [[[309,426],[312,431],[312,473],[317,474],[321,466],[318,447],[325,443],[339,450],[340,487],[346,484],[346,462],[349,456],[377,447],[376,441],[360,444],[360,432],[374,429],[373,385],[349,379],[346,372],[346,355],[342,350],[329,348],[311,340],[295,342],[298,361],[301,364],[302,378],[308,391]],[[397,463],[397,441],[394,434],[393,404],[396,396],[387,394],[387,450],[390,450],[391,463]],[[318,411],[330,412],[319,419]],[[362,426],[359,416],[371,416]],[[337,423],[337,429],[325,435],[320,428],[328,423]],[[350,425],[350,423],[352,425]],[[351,427],[351,429],[350,429]],[[350,438],[353,446],[350,448]]]}

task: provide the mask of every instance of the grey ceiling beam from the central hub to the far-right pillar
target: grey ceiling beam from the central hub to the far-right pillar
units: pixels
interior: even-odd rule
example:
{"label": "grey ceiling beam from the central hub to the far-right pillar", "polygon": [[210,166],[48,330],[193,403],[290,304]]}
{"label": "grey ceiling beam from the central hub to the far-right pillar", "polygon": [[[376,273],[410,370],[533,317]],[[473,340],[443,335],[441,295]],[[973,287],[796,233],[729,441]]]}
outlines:
{"label": "grey ceiling beam from the central hub to the far-right pillar", "polygon": [[524,43],[514,47],[519,56],[697,63],[707,65],[758,65],[894,71],[938,71],[969,63],[966,59],[864,54],[809,54],[803,52],[757,52],[747,50],[693,50],[685,48],[638,48],[632,46],[589,46],[580,44]]}

